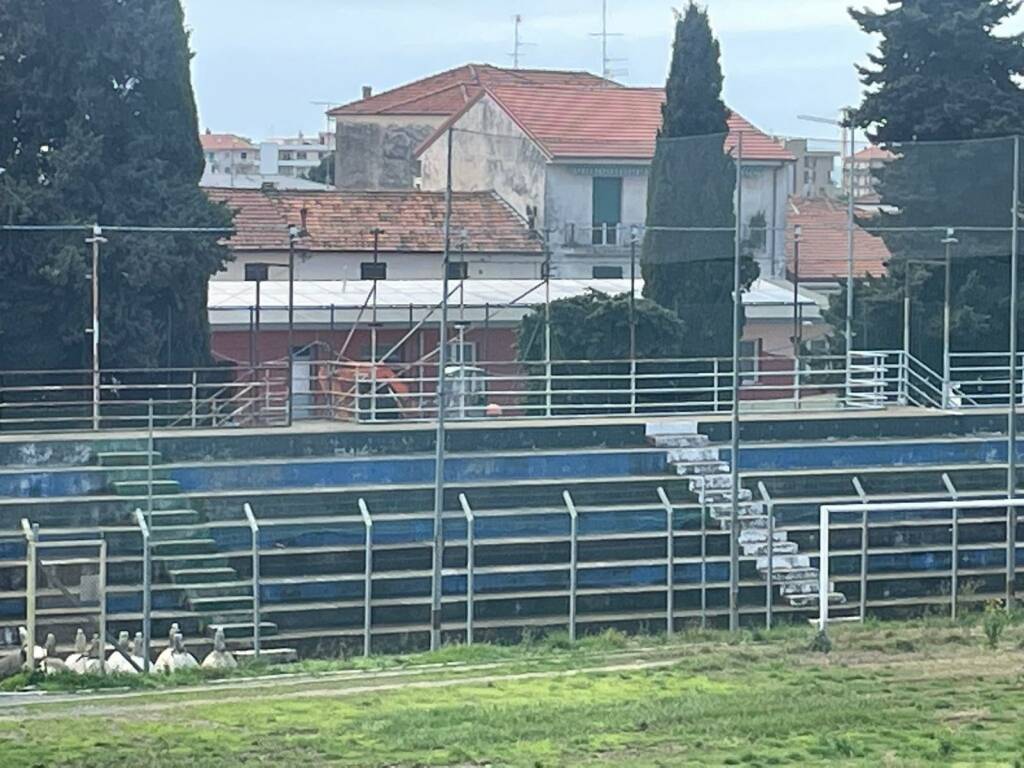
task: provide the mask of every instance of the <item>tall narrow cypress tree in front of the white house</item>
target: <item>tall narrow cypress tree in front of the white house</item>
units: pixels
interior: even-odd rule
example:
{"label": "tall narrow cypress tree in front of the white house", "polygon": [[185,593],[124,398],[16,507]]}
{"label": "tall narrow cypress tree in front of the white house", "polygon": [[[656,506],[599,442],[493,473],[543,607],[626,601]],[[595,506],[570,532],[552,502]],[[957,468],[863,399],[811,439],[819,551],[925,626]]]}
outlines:
{"label": "tall narrow cypress tree in front of the white house", "polygon": [[[691,356],[732,351],[735,165],[725,152],[718,41],[706,11],[690,4],[676,25],[663,125],[647,191],[644,295],[674,311]],[[659,227],[716,227],[675,231]],[[758,275],[742,259],[742,285]]]}

